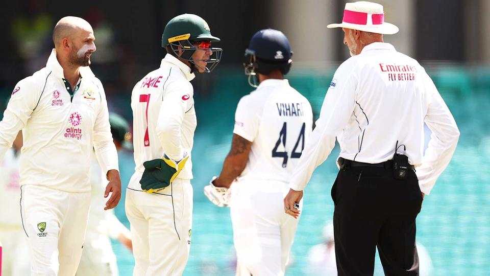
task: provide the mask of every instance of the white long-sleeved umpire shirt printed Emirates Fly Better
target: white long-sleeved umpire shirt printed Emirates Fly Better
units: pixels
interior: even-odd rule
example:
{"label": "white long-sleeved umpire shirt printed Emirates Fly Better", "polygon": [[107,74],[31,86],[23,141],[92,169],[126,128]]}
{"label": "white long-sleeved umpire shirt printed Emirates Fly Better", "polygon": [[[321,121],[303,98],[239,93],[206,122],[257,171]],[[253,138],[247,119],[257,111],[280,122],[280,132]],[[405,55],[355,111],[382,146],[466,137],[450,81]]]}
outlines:
{"label": "white long-sleeved umpire shirt printed Emirates Fly Better", "polygon": [[[424,122],[432,135],[423,156]],[[375,42],[335,72],[291,189],[306,187],[332,151],[335,137],[340,157],[371,164],[392,159],[399,141],[416,166],[422,192],[429,194],[449,164],[459,130],[424,68],[393,45]]]}

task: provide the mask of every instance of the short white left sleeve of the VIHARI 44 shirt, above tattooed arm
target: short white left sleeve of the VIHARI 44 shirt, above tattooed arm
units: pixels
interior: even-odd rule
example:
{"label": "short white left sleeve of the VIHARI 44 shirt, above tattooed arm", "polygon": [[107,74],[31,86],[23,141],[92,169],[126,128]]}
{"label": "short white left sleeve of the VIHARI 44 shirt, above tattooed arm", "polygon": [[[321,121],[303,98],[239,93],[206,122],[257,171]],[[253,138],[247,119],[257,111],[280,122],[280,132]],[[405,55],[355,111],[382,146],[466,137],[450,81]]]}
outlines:
{"label": "short white left sleeve of the VIHARI 44 shirt, above tattooed arm", "polygon": [[244,96],[238,102],[235,111],[235,128],[233,133],[240,135],[250,142],[254,142],[259,129],[260,114],[252,104],[250,95]]}

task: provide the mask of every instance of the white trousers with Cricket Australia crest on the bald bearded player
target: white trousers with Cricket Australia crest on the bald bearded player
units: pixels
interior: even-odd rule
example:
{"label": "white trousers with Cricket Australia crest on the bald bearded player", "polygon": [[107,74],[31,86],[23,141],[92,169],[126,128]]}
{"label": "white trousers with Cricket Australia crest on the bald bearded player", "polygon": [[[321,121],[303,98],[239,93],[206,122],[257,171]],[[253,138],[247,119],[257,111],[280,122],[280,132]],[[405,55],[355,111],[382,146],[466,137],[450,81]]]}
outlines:
{"label": "white trousers with Cricket Australia crest on the bald bearded player", "polygon": [[21,187],[20,214],[31,252],[31,275],[73,276],[87,228],[90,192]]}

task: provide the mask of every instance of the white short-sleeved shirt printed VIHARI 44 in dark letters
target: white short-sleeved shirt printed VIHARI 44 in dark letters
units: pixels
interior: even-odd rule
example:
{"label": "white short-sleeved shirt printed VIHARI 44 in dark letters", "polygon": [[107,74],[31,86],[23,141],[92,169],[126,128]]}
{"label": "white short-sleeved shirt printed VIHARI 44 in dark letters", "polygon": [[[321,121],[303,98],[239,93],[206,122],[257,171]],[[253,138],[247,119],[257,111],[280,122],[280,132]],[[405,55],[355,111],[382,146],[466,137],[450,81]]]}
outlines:
{"label": "white short-sleeved shirt printed VIHARI 44 in dark letters", "polygon": [[312,124],[310,103],[286,79],[262,81],[236,107],[233,133],[252,142],[240,180],[288,182]]}

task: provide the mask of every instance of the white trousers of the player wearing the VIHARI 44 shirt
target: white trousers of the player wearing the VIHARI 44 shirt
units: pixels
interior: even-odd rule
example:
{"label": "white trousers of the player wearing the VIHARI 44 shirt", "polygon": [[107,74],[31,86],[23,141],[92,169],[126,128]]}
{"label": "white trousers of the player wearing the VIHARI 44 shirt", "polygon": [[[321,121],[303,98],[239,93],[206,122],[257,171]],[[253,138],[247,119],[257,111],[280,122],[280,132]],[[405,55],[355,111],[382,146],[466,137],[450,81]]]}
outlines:
{"label": "white trousers of the player wearing the VIHARI 44 shirt", "polygon": [[[284,213],[287,182],[242,180],[232,187],[230,214],[236,275],[284,275],[298,219]],[[300,209],[303,201],[300,202]]]}

